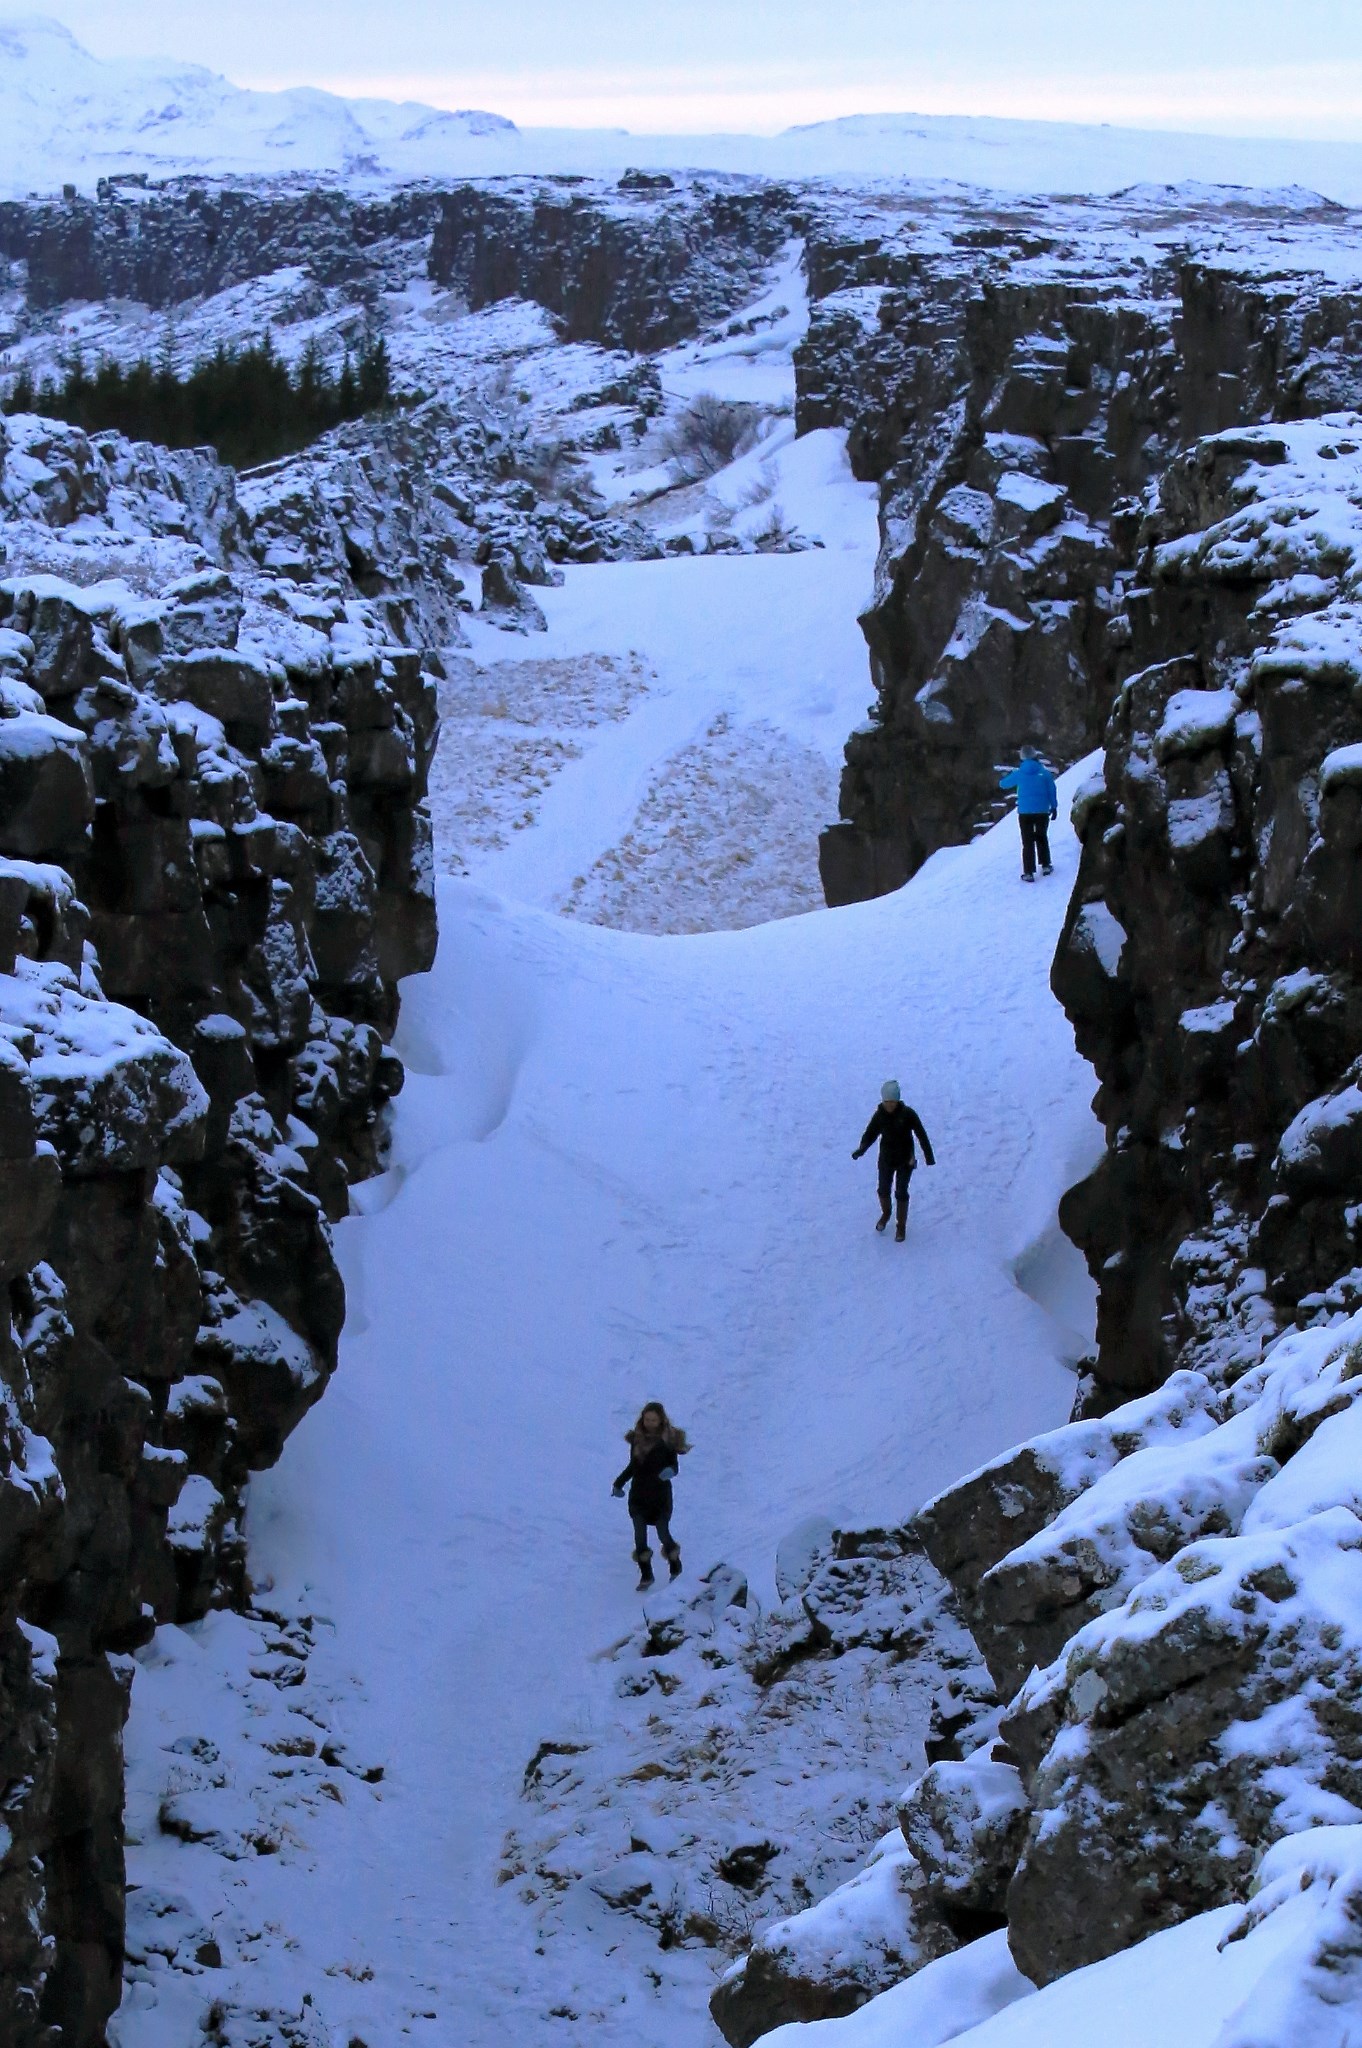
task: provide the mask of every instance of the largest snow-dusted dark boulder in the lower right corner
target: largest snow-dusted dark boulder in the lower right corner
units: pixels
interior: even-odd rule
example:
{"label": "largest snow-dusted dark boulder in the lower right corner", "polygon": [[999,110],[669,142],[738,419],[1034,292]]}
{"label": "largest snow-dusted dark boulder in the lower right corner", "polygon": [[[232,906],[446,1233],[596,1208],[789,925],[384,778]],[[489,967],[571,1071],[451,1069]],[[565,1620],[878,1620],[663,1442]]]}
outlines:
{"label": "largest snow-dusted dark boulder in the lower right corner", "polygon": [[1018,1696],[1034,1819],[1008,1894],[1051,1982],[1239,1894],[1264,1843],[1362,1819],[1362,1522],[1208,1538]]}

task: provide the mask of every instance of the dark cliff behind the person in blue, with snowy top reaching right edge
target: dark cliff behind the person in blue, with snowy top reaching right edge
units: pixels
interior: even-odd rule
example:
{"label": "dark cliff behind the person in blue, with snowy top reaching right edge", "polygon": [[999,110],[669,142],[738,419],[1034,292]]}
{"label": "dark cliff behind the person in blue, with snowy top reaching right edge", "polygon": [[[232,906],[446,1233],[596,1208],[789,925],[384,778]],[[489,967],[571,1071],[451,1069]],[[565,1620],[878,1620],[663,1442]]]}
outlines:
{"label": "dark cliff behind the person in blue, with snowy top reaching right edge", "polygon": [[[1317,211],[1352,250],[1346,217]],[[1251,238],[1202,254],[1204,219],[922,205],[887,227],[813,229],[797,358],[801,428],[846,426],[883,494],[877,702],[821,842],[829,903],[897,889],[991,823],[1022,743],[1067,766],[1100,741],[1120,571],[1190,440],[1362,399],[1358,291],[1290,252],[1272,268]]]}

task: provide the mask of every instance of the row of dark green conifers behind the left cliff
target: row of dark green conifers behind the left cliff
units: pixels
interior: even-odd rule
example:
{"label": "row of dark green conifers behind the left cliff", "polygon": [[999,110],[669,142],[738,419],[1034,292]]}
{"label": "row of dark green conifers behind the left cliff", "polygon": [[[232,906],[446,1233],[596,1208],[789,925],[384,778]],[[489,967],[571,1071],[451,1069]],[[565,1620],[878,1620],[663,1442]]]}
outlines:
{"label": "row of dark green conifers behind the left cliff", "polygon": [[211,444],[225,463],[250,469],[389,403],[391,365],[383,336],[354,358],[346,352],[342,369],[332,371],[315,344],[291,369],[266,334],[246,348],[219,346],[184,375],[168,352],[160,362],[143,356],[123,367],[104,358],[94,369],[76,354],[59,379],[35,383],[20,371],[0,410],[70,420],[86,432],[115,428],[129,440],[156,440],[166,449]]}

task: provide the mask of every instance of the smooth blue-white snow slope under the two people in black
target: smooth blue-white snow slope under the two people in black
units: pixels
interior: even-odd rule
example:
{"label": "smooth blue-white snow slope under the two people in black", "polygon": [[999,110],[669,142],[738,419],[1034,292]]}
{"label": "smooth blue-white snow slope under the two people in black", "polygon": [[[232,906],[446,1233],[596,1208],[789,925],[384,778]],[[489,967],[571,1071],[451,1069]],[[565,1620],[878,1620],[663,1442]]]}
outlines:
{"label": "smooth blue-white snow slope under the two people in black", "polygon": [[[336,1624],[313,1669],[363,1673],[354,1747],[389,1761],[305,1915],[371,1956],[356,2013],[428,1982],[418,2040],[616,2038],[547,2017],[494,1866],[528,1755],[635,1612],[608,1483],[641,1399],[696,1438],[688,1559],[762,1593],[803,1516],[901,1518],[1067,1413],[1065,1337],[1010,1264],[1094,1143],[1047,987],[1077,850],[1061,831],[1053,885],[1020,889],[1014,836],[881,903],[707,938],[442,889],[397,1163],[340,1229],[342,1372],[254,1495],[258,1565],[313,1587]],[[903,1247],[850,1161],[885,1073],[942,1161]],[[578,1966],[600,1999],[610,1962]],[[709,2038],[700,1993],[645,2038]],[[639,1987],[610,1995],[637,2040]]]}

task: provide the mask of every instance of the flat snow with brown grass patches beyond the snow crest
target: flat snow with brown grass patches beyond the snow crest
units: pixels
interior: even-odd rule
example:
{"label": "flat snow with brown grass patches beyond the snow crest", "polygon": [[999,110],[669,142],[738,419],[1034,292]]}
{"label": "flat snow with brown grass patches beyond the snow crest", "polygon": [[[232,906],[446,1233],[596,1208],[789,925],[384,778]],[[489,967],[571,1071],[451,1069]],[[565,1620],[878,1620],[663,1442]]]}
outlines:
{"label": "flat snow with brown grass patches beyond the snow crest", "polygon": [[[789,264],[778,281],[789,287]],[[795,293],[786,289],[782,297]],[[789,334],[782,346],[789,379]],[[766,375],[762,358],[746,356],[727,367],[723,358],[707,360],[700,375],[692,358],[703,354],[676,350],[664,358],[668,375],[678,383],[688,377],[698,385],[717,383],[725,393],[741,391],[750,375]],[[772,903],[799,891],[803,901],[791,907],[805,907],[809,883],[817,887],[817,834],[829,817],[827,791],[836,788],[846,735],[864,719],[870,698],[856,616],[875,569],[877,489],[852,477],[842,434],[821,430],[793,440],[793,426],[784,422],[723,471],[715,487],[735,500],[766,492],[766,502],[780,504],[819,545],[793,555],[569,567],[561,590],[535,592],[549,621],[545,635],[508,635],[481,618],[469,621],[471,655],[487,698],[502,694],[498,670],[510,678],[504,694],[514,723],[502,719],[498,729],[524,735],[530,745],[545,743],[539,770],[557,741],[567,741],[578,756],[549,770],[543,797],[526,801],[522,782],[498,797],[483,786],[485,752],[475,731],[467,766],[457,748],[471,727],[461,723],[451,735],[455,752],[438,764],[432,795],[436,840],[461,842],[455,864],[467,864],[469,877],[494,893],[541,909],[569,907],[596,862],[621,852],[649,795],[664,823],[668,811],[678,827],[694,823],[694,786],[686,770],[705,766],[713,768],[715,799],[723,799],[707,846],[717,870],[731,879],[752,862],[760,872],[764,860],[780,860],[793,842],[799,872],[784,889],[770,877],[754,901]],[[582,690],[590,692],[590,668],[602,655],[647,674],[645,692],[625,717],[619,717],[612,676],[596,684],[602,705],[594,725],[584,721],[582,705],[573,707],[571,723],[559,725],[551,702],[522,709],[526,690],[518,676],[526,666],[555,664],[561,672],[576,664]],[[793,766],[793,795],[774,817],[772,741],[776,760]],[[809,756],[815,756],[815,774],[805,766]],[[449,807],[446,817],[442,807]],[[490,852],[465,844],[459,811],[469,807],[500,823],[506,844]],[[692,870],[694,860],[678,842],[643,877],[662,928],[668,911],[674,911],[672,930],[690,922],[682,905],[694,905]]]}

